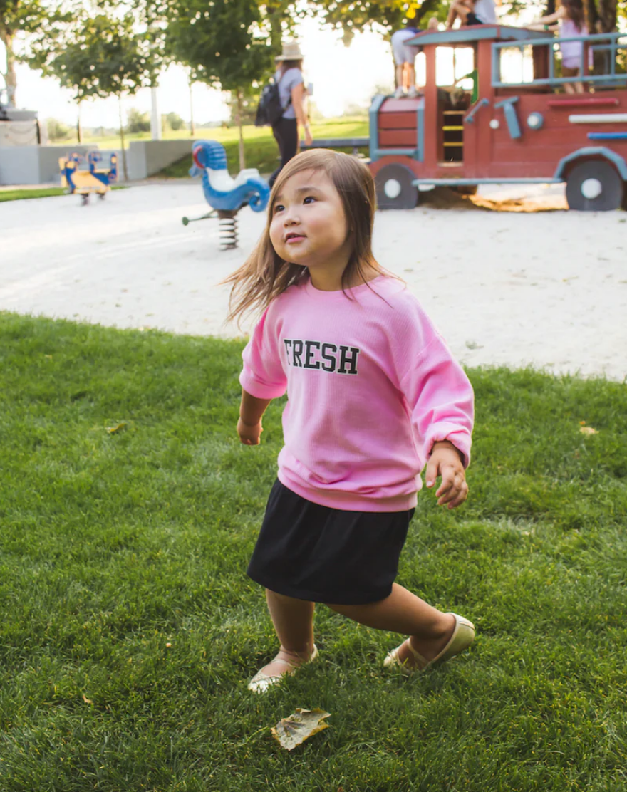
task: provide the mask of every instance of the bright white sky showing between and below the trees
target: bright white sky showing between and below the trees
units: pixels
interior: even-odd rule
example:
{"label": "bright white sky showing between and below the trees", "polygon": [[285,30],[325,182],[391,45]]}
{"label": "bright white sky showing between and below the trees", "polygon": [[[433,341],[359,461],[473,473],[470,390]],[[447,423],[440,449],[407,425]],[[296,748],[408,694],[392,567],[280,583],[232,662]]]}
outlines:
{"label": "bright white sky showing between and below the trees", "polygon": [[[321,29],[319,21],[306,19],[298,25],[297,38],[304,53],[305,80],[312,82],[315,104],[324,116],[341,115],[347,105],[368,105],[377,86],[393,84],[392,52],[380,34],[359,33],[346,48],[341,32]],[[3,61],[0,53],[0,63]],[[158,96],[160,112],[176,112],[189,121],[189,87],[182,67],[170,66],[162,74]],[[54,117],[66,124],[76,121],[77,106],[71,93],[54,79],[42,78],[40,72],[21,64],[17,66],[17,106],[38,111],[40,119]],[[123,107],[124,111],[135,107],[150,112],[150,89],[124,97]],[[223,94],[195,83],[193,115],[198,123],[226,119]],[[87,127],[116,127],[117,99],[83,102],[81,117]]]}

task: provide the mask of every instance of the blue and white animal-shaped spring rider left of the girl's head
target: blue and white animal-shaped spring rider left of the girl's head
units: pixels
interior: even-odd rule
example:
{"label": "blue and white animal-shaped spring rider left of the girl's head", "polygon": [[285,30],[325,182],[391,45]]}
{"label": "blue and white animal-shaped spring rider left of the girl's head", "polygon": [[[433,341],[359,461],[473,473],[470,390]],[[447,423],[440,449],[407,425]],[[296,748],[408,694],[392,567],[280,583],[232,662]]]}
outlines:
{"label": "blue and white animal-shaped spring rider left of the girl's head", "polygon": [[259,176],[257,168],[245,168],[232,178],[227,170],[224,146],[216,140],[197,140],[192,146],[192,158],[189,175],[202,177],[205,199],[213,211],[192,219],[184,217],[183,225],[218,217],[221,249],[237,247],[238,211],[246,205],[253,211],[263,211],[270,198],[270,186]]}

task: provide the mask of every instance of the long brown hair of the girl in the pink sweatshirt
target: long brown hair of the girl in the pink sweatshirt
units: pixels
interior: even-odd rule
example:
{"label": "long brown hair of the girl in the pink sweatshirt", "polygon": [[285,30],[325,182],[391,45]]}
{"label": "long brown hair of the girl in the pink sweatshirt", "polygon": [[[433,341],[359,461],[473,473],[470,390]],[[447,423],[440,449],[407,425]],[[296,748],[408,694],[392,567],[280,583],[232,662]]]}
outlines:
{"label": "long brown hair of the girl in the pink sweatshirt", "polygon": [[266,310],[275,297],[292,284],[308,277],[308,268],[277,256],[270,242],[270,223],[275,196],[295,173],[321,170],[327,174],[342,199],[346,227],[353,238],[353,249],[342,272],[342,291],[349,284],[366,283],[365,273],[383,273],[373,256],[372,237],[377,197],[373,177],[363,162],[350,154],[327,149],[312,149],[297,154],[281,170],[274,182],[268,203],[266,229],[243,265],[223,281],[232,284],[227,322],[243,314]]}

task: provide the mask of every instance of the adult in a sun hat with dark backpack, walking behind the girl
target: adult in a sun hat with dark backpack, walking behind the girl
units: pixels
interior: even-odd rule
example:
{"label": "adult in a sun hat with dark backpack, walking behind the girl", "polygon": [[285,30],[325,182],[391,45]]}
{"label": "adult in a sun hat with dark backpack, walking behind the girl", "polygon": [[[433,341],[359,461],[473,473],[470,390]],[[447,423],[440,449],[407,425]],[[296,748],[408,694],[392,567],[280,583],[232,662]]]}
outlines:
{"label": "adult in a sun hat with dark backpack, walking behind the girl", "polygon": [[296,41],[287,42],[283,45],[281,55],[277,55],[275,60],[277,61],[277,73],[274,75],[274,79],[279,86],[281,107],[284,107],[285,110],[272,128],[281,154],[281,165],[270,177],[270,187],[281,172],[281,168],[296,156],[299,127],[304,129],[304,141],[307,145],[310,145],[313,140],[305,109],[307,92],[303,78],[303,53],[300,51],[299,44]]}

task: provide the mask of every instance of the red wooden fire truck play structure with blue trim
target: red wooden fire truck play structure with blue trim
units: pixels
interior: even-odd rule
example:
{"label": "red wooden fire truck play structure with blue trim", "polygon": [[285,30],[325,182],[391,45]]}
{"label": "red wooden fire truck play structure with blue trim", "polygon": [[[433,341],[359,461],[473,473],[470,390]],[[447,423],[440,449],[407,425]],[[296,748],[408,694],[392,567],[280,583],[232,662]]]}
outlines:
{"label": "red wooden fire truck play structure with blue trim", "polygon": [[[533,182],[565,182],[572,209],[627,208],[627,35],[579,40],[583,78],[560,76],[560,39],[550,32],[476,25],[407,42],[425,55],[423,95],[377,96],[370,109],[380,208],[415,207],[434,185],[472,192]],[[438,61],[451,55],[453,85],[438,86]],[[456,59],[471,64],[465,81]],[[586,93],[556,93],[567,82]]]}

